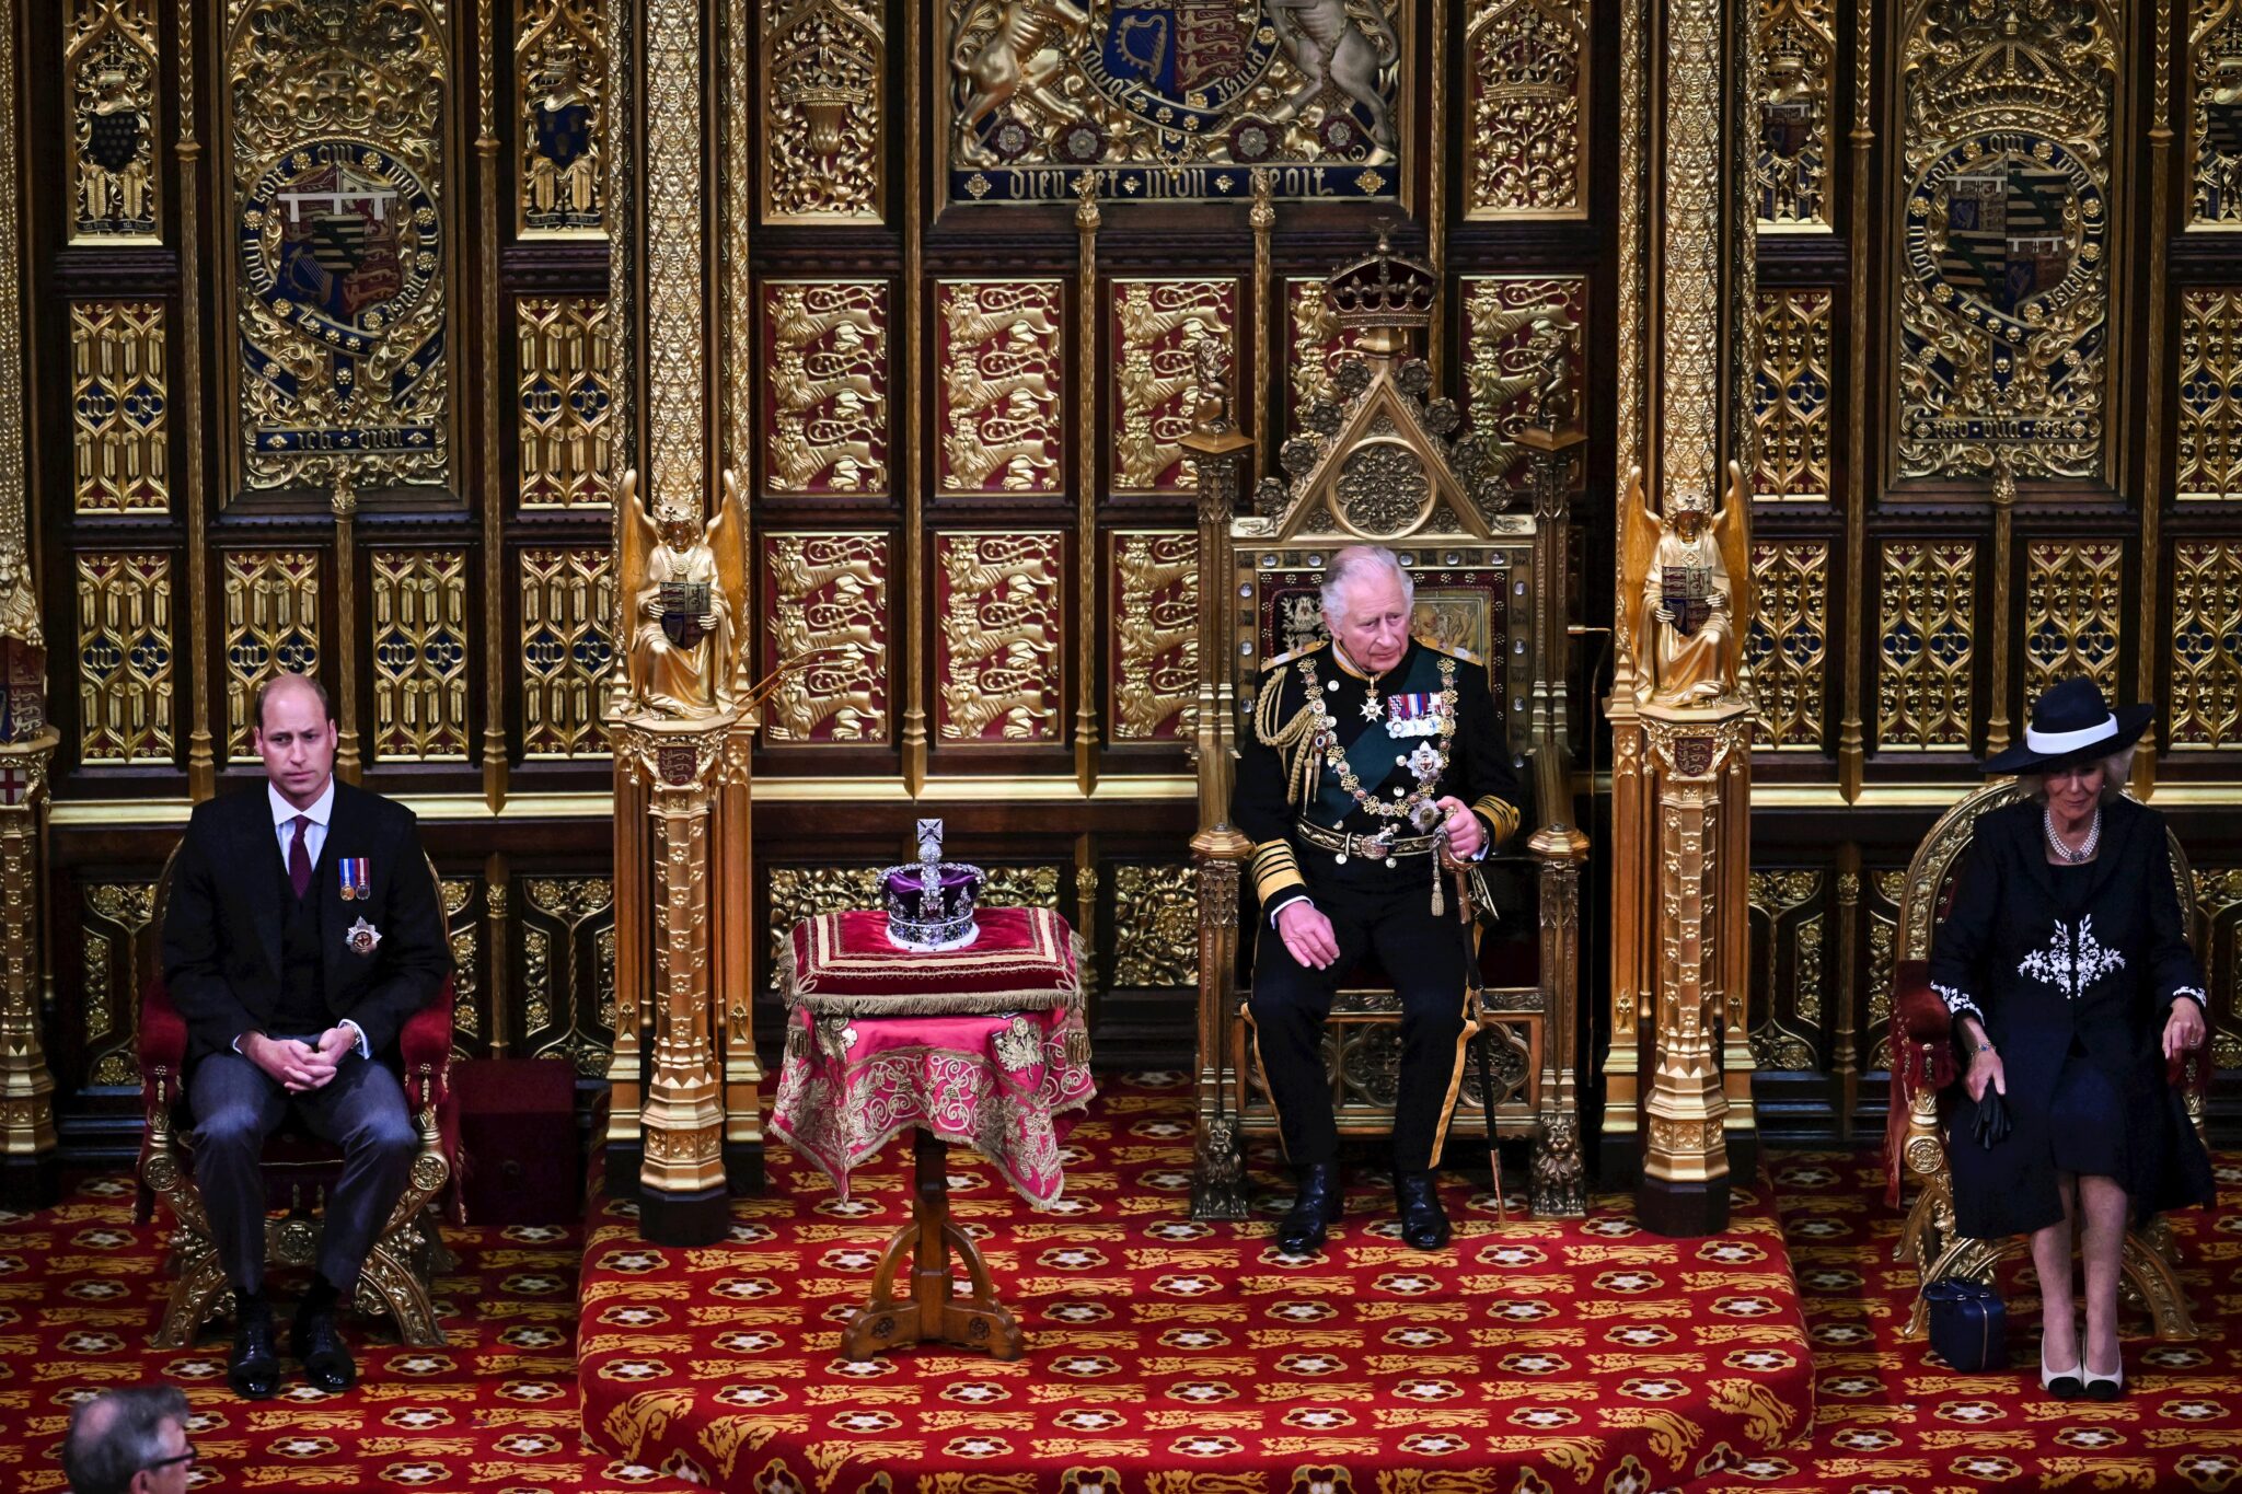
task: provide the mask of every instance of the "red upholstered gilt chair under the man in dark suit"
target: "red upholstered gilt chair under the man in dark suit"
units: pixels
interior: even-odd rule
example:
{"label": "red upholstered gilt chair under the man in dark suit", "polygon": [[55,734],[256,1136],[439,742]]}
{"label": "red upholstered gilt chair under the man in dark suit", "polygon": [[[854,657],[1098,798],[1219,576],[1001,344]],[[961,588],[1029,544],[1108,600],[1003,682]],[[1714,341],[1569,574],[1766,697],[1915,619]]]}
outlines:
{"label": "red upholstered gilt chair under the man in dark suit", "polygon": [[[164,927],[170,871],[166,865],[155,891],[157,930]],[[433,865],[428,876],[435,876]],[[442,905],[439,885],[437,907]],[[388,1313],[397,1322],[397,1337],[417,1346],[444,1344],[428,1286],[455,1263],[437,1230],[437,1201],[446,1194],[457,1216],[453,1180],[460,1171],[460,1115],[451,1093],[451,1006],[453,986],[446,979],[437,999],[408,1017],[397,1035],[406,1102],[419,1124],[421,1145],[406,1192],[365,1257],[356,1295],[361,1313]],[[193,1118],[186,1107],[186,1019],[173,1006],[161,970],[141,992],[139,1066],[141,1109],[148,1120],[139,1158],[139,1218],[146,1223],[155,1198],[161,1198],[175,1221],[170,1272],[177,1281],[164,1308],[164,1324],[150,1342],[155,1348],[186,1348],[195,1330],[224,1310],[229,1290],[202,1210],[202,1192],[195,1187]],[[282,1124],[267,1142],[267,1266],[307,1268],[318,1257],[316,1207],[341,1167],[341,1147],[294,1124]]]}

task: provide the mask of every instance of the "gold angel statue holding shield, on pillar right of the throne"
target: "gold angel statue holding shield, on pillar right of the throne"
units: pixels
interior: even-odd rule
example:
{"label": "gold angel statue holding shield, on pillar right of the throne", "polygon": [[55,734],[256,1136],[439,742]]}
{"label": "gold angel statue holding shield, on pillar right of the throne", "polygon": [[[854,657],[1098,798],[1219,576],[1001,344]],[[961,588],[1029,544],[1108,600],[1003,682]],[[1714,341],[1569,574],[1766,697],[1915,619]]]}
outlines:
{"label": "gold angel statue holding shield, on pillar right of the throne", "polygon": [[1706,513],[1684,495],[1668,517],[1643,502],[1643,470],[1628,473],[1625,594],[1634,598],[1634,703],[1708,706],[1738,694],[1738,629],[1751,616],[1744,538],[1751,488],[1729,464],[1729,502]]}

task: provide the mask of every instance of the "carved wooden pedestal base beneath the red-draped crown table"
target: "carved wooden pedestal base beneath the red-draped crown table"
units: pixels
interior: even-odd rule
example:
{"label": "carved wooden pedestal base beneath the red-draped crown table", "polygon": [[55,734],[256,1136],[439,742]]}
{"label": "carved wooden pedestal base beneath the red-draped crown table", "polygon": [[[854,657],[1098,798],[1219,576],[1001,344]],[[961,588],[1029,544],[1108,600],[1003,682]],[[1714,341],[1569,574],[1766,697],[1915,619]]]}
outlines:
{"label": "carved wooden pedestal base beneath the red-draped crown table", "polygon": [[[912,1131],[915,1187],[910,1196],[910,1223],[895,1232],[888,1250],[879,1257],[879,1274],[872,1277],[872,1301],[856,1308],[841,1330],[841,1346],[850,1360],[870,1360],[888,1348],[910,1344],[955,1344],[960,1348],[984,1348],[991,1360],[1020,1357],[1020,1324],[995,1299],[989,1283],[989,1266],[964,1230],[951,1223],[951,1149],[933,1131]],[[910,1297],[895,1299],[895,1279],[901,1274],[904,1252],[912,1252]],[[951,1279],[951,1250],[964,1259],[973,1295],[957,1299]]]}

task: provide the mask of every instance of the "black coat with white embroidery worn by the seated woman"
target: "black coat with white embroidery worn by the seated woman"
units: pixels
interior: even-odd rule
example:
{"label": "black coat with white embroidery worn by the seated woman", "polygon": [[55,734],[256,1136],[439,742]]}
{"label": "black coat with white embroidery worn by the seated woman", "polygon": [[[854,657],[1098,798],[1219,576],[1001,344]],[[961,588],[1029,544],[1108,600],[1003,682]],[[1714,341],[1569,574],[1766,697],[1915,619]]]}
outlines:
{"label": "black coat with white embroidery worn by the seated woman", "polygon": [[[2166,1084],[2164,1021],[2172,1001],[2204,1001],[2188,950],[2164,815],[2103,806],[2101,851],[2085,869],[2047,862],[2040,804],[1977,820],[1953,909],[1930,943],[1930,986],[1955,1015],[1977,1017],[2000,1051],[2009,1140],[1986,1149],[1968,1131],[1971,1100],[1946,1102],[1955,1225],[1973,1239],[2025,1234],[2063,1218],[2051,1154],[2051,1100],[2072,1039],[2107,1075],[2125,1109],[2125,1176],[2139,1218],[2211,1203],[2211,1158]],[[1971,1048],[1962,1046],[1966,1073]]]}

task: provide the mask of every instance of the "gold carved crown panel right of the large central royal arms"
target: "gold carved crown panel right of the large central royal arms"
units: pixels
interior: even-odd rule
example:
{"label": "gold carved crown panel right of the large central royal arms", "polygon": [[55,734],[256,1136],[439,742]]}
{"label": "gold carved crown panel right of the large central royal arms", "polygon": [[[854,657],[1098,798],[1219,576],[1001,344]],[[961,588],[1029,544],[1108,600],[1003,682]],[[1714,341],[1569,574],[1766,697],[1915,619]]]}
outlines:
{"label": "gold carved crown panel right of the large central royal arms", "polygon": [[1587,211],[1587,0],[1469,0],[1464,217]]}

